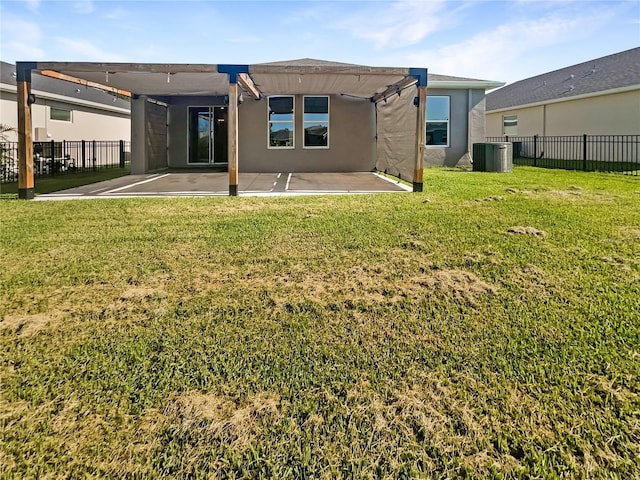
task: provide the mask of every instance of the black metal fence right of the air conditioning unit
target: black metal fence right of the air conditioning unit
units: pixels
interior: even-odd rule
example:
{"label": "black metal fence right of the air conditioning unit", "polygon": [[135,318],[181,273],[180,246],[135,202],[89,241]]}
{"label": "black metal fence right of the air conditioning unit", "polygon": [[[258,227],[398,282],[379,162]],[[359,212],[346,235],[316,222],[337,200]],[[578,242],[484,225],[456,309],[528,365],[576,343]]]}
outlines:
{"label": "black metal fence right of the air conditioning unit", "polygon": [[511,142],[513,164],[586,172],[640,172],[640,135],[488,137]]}

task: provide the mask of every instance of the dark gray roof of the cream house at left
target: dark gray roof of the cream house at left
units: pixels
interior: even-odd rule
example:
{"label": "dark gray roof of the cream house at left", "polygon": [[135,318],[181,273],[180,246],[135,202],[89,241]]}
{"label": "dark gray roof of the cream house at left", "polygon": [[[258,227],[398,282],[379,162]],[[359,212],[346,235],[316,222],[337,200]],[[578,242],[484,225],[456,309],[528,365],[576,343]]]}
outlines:
{"label": "dark gray roof of the cream house at left", "polygon": [[[16,84],[16,66],[11,63],[0,62],[0,82],[12,85]],[[114,96],[112,93],[105,92],[93,87],[86,87],[76,83],[58,80],[57,78],[46,77],[37,72],[33,72],[31,76],[31,90],[39,90],[42,92],[63,95],[69,98],[69,102],[74,100],[84,100],[94,103],[103,104],[109,107],[125,108],[129,110],[131,104],[128,100]],[[37,102],[37,96],[36,96]]]}

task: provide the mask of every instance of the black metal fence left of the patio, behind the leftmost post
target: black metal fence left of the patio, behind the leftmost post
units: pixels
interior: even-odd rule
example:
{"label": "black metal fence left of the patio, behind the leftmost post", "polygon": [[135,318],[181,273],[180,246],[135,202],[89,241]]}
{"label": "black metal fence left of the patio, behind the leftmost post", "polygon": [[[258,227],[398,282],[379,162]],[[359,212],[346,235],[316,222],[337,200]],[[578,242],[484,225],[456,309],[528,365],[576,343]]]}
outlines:
{"label": "black metal fence left of the patio, behind the leftmost post", "polygon": [[[68,175],[101,168],[127,168],[130,142],[125,140],[78,140],[33,143],[33,173],[36,177]],[[0,182],[18,180],[18,142],[0,143]]]}

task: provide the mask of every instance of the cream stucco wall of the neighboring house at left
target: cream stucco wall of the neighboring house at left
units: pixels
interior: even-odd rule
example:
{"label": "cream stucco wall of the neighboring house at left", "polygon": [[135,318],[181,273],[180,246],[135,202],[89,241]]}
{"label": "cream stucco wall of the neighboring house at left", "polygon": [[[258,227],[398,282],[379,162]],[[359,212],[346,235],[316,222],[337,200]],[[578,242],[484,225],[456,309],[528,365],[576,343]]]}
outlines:
{"label": "cream stucco wall of the neighboring house at left", "polygon": [[[0,122],[14,128],[18,126],[16,94],[2,92],[0,97]],[[71,122],[51,120],[51,107],[71,110]],[[33,138],[36,129],[42,128],[45,138],[37,140],[129,140],[131,123],[129,114],[116,113],[83,105],[74,105],[57,100],[38,97],[31,105]],[[10,141],[17,141],[17,134],[10,135]]]}

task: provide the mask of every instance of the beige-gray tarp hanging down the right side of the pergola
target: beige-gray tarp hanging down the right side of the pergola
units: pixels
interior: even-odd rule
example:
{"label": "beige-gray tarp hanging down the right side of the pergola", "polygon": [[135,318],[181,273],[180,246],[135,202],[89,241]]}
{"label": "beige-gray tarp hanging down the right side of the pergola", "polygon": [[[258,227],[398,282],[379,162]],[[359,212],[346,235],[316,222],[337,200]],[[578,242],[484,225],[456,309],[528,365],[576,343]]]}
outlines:
{"label": "beige-gray tarp hanging down the right side of the pergola", "polygon": [[376,105],[376,169],[406,181],[413,181],[418,109],[413,104],[417,87],[402,90]]}

